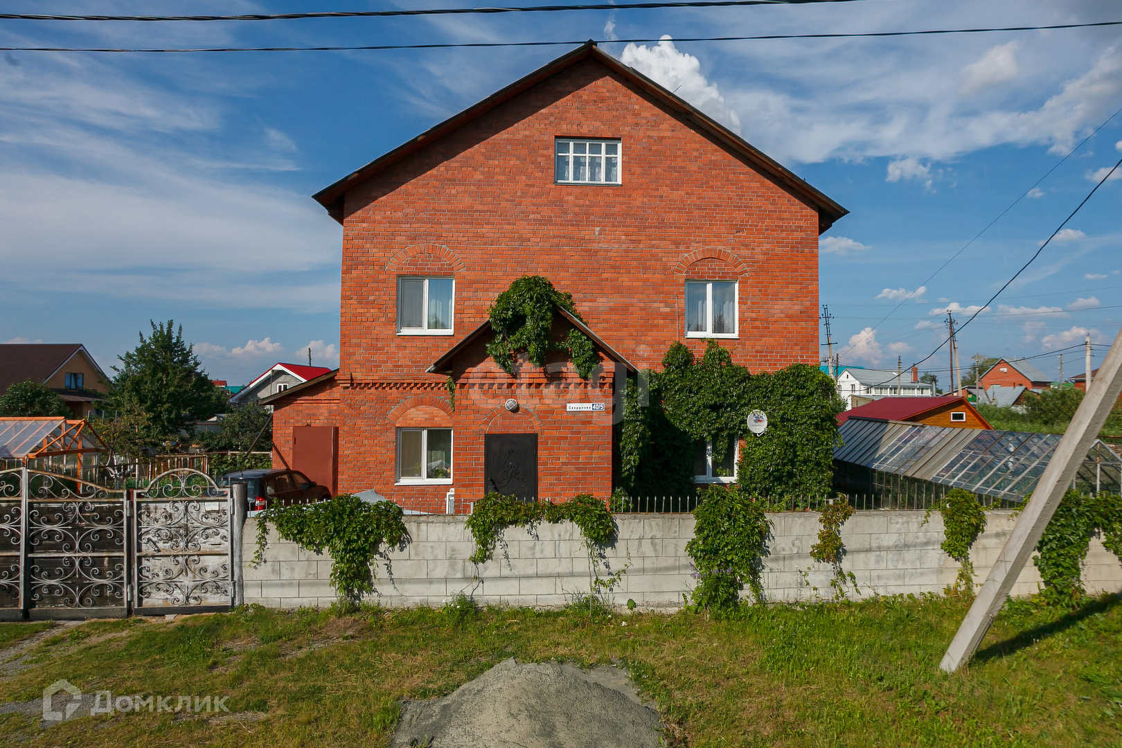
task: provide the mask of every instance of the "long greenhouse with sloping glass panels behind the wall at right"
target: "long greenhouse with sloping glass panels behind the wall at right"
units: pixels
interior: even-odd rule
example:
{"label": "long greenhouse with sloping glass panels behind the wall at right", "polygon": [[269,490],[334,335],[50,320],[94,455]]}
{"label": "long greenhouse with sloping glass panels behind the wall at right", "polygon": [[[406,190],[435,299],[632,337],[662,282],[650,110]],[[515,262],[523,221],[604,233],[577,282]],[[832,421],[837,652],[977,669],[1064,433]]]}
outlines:
{"label": "long greenhouse with sloping glass panels behind the wall at right", "polygon": [[[1057,434],[923,426],[849,418],[834,450],[834,488],[879,504],[938,498],[953,488],[973,491],[987,506],[1015,506],[1032,492],[1048,465]],[[1074,488],[1122,490],[1122,458],[1095,440]]]}

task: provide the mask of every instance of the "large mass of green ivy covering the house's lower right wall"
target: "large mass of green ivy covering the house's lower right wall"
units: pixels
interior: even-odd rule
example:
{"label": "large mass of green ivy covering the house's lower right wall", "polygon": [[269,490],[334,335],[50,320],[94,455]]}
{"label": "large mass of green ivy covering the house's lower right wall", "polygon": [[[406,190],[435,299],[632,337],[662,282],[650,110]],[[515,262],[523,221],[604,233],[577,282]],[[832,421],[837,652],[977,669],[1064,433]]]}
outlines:
{"label": "large mass of green ivy covering the house's lower right wall", "polygon": [[[692,491],[698,440],[715,453],[743,438],[737,482],[752,496],[826,496],[833,481],[837,414],[845,409],[833,380],[815,367],[792,364],[752,375],[708,341],[701,360],[675,342],[661,372],[647,372],[649,405],[628,380],[619,430],[619,484],[632,496]],[[767,414],[767,431],[747,431],[747,415]]]}

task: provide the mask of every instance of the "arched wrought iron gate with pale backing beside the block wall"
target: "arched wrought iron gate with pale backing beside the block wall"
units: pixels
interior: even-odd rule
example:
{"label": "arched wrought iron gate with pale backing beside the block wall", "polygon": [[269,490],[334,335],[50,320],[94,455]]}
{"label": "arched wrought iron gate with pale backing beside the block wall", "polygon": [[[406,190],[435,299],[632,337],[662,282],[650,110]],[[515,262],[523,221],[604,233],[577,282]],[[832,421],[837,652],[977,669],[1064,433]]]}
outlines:
{"label": "arched wrought iron gate with pale backing beside the block wall", "polygon": [[181,468],[136,492],[135,569],[138,608],[229,606],[230,489]]}

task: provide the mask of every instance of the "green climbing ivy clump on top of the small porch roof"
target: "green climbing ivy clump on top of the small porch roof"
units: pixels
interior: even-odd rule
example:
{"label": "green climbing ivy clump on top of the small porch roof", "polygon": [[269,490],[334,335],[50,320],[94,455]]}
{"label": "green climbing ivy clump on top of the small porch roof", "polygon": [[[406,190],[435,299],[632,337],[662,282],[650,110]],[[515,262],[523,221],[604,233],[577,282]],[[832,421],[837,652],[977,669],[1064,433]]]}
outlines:
{"label": "green climbing ivy clump on top of the small porch roof", "polygon": [[487,344],[487,354],[513,376],[517,353],[525,351],[530,362],[541,367],[551,351],[562,351],[572,360],[581,379],[588,379],[600,357],[592,341],[579,330],[570,330],[563,341],[553,340],[553,320],[559,307],[583,321],[572,294],[559,292],[542,276],[522,276],[495,297],[487,310],[495,332]]}

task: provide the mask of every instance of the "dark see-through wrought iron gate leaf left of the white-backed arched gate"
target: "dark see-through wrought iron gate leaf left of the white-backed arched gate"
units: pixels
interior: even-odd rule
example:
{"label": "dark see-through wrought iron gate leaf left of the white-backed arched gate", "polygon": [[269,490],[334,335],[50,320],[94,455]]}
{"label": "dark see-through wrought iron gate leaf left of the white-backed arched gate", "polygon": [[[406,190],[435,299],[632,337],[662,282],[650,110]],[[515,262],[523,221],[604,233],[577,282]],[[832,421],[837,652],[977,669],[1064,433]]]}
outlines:
{"label": "dark see-through wrought iron gate leaf left of the white-backed arched gate", "polygon": [[126,608],[125,492],[36,470],[22,473],[22,607]]}

